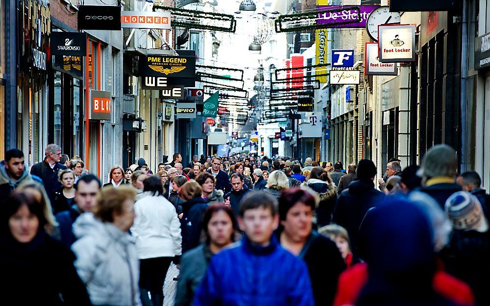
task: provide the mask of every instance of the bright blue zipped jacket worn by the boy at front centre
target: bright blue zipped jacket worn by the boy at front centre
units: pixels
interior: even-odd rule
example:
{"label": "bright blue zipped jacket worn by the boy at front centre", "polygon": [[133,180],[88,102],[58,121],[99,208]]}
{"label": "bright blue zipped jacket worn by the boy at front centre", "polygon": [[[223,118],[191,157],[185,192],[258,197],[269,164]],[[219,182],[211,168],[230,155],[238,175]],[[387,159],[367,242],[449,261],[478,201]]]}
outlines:
{"label": "bright blue zipped jacket worn by the boy at front centre", "polygon": [[283,249],[275,236],[266,247],[244,236],[215,255],[197,289],[194,306],[314,306],[303,260]]}

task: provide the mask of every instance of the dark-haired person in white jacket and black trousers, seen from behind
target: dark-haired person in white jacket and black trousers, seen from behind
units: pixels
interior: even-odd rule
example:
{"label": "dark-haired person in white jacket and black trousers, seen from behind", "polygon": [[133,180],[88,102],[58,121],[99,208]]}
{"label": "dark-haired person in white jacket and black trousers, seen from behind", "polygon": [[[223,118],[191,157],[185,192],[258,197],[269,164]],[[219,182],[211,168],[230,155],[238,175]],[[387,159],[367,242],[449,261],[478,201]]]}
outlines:
{"label": "dark-haired person in white jacket and black trousers, seen from behind", "polygon": [[131,227],[140,259],[141,302],[143,306],[162,306],[167,271],[172,260],[178,263],[182,254],[180,221],[172,203],[163,196],[158,177],[148,177],[143,185],[143,196],[134,203],[136,217]]}

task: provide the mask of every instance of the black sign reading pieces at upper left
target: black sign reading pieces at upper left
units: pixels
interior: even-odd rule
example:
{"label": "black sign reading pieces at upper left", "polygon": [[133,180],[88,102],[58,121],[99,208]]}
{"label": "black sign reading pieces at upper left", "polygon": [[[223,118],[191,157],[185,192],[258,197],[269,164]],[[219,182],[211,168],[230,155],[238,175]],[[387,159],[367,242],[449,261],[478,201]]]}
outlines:
{"label": "black sign reading pieces at upper left", "polygon": [[121,7],[111,5],[80,5],[78,7],[80,30],[121,30]]}

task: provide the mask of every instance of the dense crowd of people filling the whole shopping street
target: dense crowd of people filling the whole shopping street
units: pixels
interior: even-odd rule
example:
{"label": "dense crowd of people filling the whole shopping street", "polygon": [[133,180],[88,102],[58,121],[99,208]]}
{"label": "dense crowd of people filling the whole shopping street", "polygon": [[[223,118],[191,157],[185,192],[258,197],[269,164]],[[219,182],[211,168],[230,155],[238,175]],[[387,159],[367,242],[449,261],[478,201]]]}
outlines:
{"label": "dense crowd of people filling the whole shopping street", "polygon": [[[143,158],[101,183],[49,144],[0,163],[7,305],[490,305],[490,197],[454,149],[370,160]],[[155,174],[153,174],[155,173]],[[167,297],[168,298],[168,297]]]}

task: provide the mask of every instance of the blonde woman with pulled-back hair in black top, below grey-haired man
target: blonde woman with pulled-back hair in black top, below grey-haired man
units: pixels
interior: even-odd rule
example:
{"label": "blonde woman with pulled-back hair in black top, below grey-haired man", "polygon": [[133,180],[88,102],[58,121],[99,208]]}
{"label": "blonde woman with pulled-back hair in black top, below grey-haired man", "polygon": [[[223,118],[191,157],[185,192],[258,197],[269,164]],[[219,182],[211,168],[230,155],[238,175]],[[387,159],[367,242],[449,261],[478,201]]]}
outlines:
{"label": "blonde woman with pulled-back hair in black top, below grey-haired man", "polygon": [[68,211],[73,204],[75,198],[75,172],[70,169],[63,169],[58,172],[58,180],[63,185],[56,192],[54,192],[53,201],[51,206],[53,213]]}

